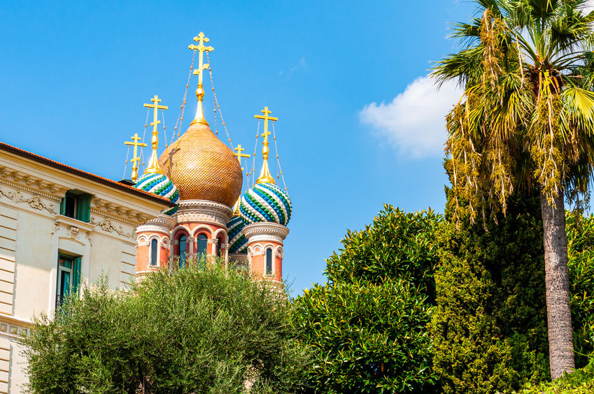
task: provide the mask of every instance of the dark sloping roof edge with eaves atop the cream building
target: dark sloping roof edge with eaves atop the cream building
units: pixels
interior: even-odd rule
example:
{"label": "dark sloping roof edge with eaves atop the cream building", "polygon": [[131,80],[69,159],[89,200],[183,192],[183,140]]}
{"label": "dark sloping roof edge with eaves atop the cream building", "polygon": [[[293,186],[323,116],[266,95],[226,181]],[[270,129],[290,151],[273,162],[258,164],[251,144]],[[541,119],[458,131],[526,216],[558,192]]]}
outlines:
{"label": "dark sloping roof edge with eaves atop the cream building", "polygon": [[14,154],[25,157],[27,159],[38,161],[39,163],[47,164],[48,166],[53,167],[53,168],[58,168],[59,170],[64,170],[67,173],[78,175],[80,177],[85,177],[88,180],[93,180],[95,182],[106,184],[107,186],[113,187],[115,189],[120,189],[123,191],[127,191],[131,194],[136,194],[136,196],[141,196],[143,198],[148,198],[150,200],[156,200],[161,203],[167,203],[167,205],[169,205],[170,207],[173,207],[175,205],[174,203],[171,203],[171,201],[169,201],[167,198],[157,196],[156,194],[148,193],[147,191],[136,189],[136,187],[129,186],[129,185],[123,184],[121,182],[116,182],[114,180],[110,180],[108,178],[101,177],[99,175],[87,173],[87,171],[83,171],[83,170],[79,170],[78,168],[67,166],[66,164],[60,163],[59,161],[55,161],[52,159],[48,159],[47,157],[39,156],[38,154],[27,152],[24,149],[13,147],[12,145],[8,145],[8,144],[0,142],[0,149],[6,150],[8,152],[12,152]]}

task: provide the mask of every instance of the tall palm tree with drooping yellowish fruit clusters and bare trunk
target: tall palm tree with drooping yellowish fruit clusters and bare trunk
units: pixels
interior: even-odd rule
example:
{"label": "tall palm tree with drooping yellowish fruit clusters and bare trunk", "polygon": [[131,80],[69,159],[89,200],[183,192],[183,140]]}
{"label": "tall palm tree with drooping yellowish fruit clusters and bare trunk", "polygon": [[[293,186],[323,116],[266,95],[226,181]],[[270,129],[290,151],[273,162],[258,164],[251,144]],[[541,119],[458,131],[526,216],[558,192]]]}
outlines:
{"label": "tall palm tree with drooping yellowish fruit clusters and bare trunk", "polygon": [[458,53],[437,63],[439,82],[465,93],[448,114],[454,217],[505,212],[519,191],[542,207],[551,377],[574,369],[565,198],[587,197],[594,164],[594,13],[585,0],[475,0],[479,17],[456,24]]}

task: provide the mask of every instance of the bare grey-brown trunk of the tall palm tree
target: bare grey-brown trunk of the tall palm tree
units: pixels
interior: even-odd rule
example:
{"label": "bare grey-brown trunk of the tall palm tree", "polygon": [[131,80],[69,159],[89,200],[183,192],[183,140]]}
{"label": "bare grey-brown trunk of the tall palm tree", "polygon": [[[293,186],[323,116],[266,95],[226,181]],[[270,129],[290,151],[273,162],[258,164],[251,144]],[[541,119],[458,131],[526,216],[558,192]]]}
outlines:
{"label": "bare grey-brown trunk of the tall palm tree", "polygon": [[542,228],[544,231],[544,282],[546,315],[549,326],[549,360],[551,378],[575,368],[570,307],[570,278],[567,275],[567,234],[563,193],[549,204],[540,193]]}

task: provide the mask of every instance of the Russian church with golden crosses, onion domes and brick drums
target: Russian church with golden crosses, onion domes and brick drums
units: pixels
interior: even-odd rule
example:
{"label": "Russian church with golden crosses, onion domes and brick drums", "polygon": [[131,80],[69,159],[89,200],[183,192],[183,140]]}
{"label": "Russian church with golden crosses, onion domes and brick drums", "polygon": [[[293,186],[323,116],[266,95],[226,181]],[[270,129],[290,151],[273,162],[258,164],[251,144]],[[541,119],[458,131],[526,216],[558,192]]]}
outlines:
{"label": "Russian church with golden crosses, onion domes and brick drums", "polygon": [[[268,166],[268,136],[271,135],[268,127],[269,122],[275,122],[277,118],[270,116],[268,108],[262,110],[264,115],[255,115],[256,119],[264,121],[262,170],[253,187],[241,196],[241,159],[250,155],[241,153],[244,150],[241,145],[234,153],[215,136],[204,117],[202,79],[203,72],[210,70],[208,64],[204,64],[204,52],[208,56],[213,47],[205,45],[208,38],[203,33],[194,41],[197,45],[189,48],[198,54],[198,65],[192,71],[198,75],[196,115],[188,130],[178,135],[158,160],[157,124],[160,121],[157,120],[157,110],[167,107],[158,104],[157,96],[151,100],[153,104],[145,105],[154,110],[154,120],[150,124],[153,126],[153,154],[135,186],[166,196],[177,205],[136,228],[136,278],[139,280],[153,270],[178,269],[192,261],[212,261],[220,257],[225,262],[243,265],[252,277],[282,287],[283,241],[289,232],[286,225],[292,207],[286,192],[276,185]],[[216,106],[218,108],[218,104]],[[134,152],[137,146],[142,146],[135,137],[134,143],[127,143],[134,146]],[[135,153],[133,177],[138,160]],[[171,262],[174,266],[169,267]]]}

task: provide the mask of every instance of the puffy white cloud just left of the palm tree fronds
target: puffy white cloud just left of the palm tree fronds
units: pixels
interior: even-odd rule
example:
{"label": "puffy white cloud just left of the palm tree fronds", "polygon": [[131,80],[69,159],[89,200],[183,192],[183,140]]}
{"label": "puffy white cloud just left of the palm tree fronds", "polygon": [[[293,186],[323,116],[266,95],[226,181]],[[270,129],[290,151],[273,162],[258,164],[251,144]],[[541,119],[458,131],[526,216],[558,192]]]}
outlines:
{"label": "puffy white cloud just left of the palm tree fronds", "polygon": [[414,80],[391,103],[365,105],[359,117],[401,154],[441,156],[446,142],[445,117],[461,96],[462,89],[455,82],[437,89],[427,75]]}

